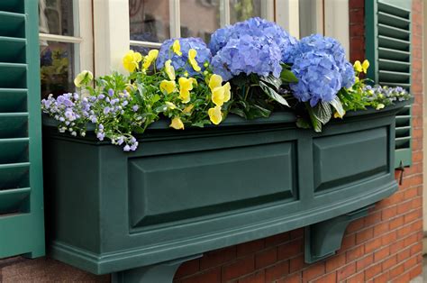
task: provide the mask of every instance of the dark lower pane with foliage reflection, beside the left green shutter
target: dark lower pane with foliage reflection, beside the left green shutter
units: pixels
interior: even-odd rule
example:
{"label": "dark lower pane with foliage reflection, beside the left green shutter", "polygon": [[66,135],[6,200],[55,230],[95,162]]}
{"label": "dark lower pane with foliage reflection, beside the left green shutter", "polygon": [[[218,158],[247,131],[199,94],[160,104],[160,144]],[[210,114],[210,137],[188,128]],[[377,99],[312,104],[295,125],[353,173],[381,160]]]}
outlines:
{"label": "dark lower pane with foliage reflection, beside the left green shutter", "polygon": [[41,97],[74,91],[73,43],[41,41]]}

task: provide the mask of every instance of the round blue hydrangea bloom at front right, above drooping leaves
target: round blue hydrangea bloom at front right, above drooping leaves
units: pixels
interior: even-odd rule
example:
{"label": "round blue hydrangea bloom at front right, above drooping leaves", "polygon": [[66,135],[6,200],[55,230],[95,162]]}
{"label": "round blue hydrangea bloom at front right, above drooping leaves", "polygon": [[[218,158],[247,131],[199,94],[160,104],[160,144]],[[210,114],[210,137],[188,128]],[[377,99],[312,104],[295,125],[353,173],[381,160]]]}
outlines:
{"label": "round blue hydrangea bloom at front right, above drooping leaves", "polygon": [[341,74],[331,54],[309,51],[295,58],[292,72],[298,83],[289,84],[299,101],[313,107],[319,101],[330,102],[341,88]]}

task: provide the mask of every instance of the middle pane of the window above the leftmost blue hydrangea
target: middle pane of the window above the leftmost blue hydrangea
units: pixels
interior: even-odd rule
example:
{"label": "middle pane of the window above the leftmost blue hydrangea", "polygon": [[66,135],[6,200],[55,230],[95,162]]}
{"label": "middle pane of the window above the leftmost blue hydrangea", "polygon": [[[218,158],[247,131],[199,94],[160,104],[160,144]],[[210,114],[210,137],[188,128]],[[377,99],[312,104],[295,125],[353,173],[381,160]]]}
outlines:
{"label": "middle pane of the window above the leftmost blue hydrangea", "polygon": [[181,0],[181,37],[200,37],[210,41],[220,28],[220,0]]}

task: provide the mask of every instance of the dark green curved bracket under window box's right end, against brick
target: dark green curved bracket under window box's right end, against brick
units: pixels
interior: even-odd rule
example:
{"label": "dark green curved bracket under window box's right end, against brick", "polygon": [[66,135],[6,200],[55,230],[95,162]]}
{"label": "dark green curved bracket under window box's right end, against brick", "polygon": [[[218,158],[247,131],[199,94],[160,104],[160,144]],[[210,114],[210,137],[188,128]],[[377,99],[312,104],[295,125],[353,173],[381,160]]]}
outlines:
{"label": "dark green curved bracket under window box's right end, against brick", "polygon": [[341,247],[342,237],[350,222],[368,215],[368,205],[346,215],[340,215],[305,227],[304,258],[313,263],[335,254]]}

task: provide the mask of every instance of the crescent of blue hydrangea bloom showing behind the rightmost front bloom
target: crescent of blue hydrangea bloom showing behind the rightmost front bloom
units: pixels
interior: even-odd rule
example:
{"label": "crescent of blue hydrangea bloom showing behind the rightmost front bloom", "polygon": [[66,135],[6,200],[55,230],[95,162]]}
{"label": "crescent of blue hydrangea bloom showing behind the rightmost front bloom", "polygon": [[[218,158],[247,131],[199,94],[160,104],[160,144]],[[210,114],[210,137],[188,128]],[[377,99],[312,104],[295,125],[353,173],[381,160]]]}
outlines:
{"label": "crescent of blue hydrangea bloom showing behind the rightmost front bloom", "polygon": [[340,70],[342,87],[351,87],[354,84],[354,69],[349,60],[346,59],[345,50],[340,41],[320,34],[306,36],[293,49],[293,54],[289,59],[290,63],[293,63],[301,54],[310,51],[324,52],[332,56]]}

